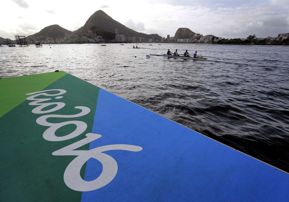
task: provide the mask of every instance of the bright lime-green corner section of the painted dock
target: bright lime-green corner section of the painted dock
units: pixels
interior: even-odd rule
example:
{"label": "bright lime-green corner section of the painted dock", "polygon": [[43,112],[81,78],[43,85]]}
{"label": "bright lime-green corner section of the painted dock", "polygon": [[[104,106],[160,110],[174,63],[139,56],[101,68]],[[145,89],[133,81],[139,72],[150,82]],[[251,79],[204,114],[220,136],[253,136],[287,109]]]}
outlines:
{"label": "bright lime-green corner section of the painted dock", "polygon": [[23,103],[30,96],[26,93],[42,90],[66,74],[61,71],[0,79],[0,117]]}

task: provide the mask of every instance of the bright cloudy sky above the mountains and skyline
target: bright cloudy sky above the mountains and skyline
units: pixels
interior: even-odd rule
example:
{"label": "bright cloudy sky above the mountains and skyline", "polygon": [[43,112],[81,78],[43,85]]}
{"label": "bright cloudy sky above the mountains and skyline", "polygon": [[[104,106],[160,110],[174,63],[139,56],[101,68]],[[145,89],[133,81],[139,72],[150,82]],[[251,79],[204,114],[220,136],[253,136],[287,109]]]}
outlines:
{"label": "bright cloudy sky above the mountains and skyline", "polygon": [[5,0],[1,6],[0,37],[12,40],[17,32],[28,36],[53,24],[75,31],[98,10],[135,31],[162,37],[174,36],[179,27],[223,38],[289,32],[289,0]]}

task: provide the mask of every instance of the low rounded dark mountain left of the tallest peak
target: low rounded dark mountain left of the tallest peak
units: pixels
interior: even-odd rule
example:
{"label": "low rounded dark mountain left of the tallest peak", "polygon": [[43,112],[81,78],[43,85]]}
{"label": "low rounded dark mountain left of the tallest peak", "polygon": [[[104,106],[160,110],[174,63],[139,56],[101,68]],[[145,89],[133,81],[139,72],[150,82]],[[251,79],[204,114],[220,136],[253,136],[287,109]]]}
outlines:
{"label": "low rounded dark mountain left of the tallest peak", "polygon": [[43,39],[45,39],[46,37],[58,38],[58,37],[64,37],[65,34],[71,34],[71,33],[72,33],[71,31],[64,29],[63,27],[59,25],[50,25],[41,29],[40,32],[37,32],[28,37],[42,36]]}

